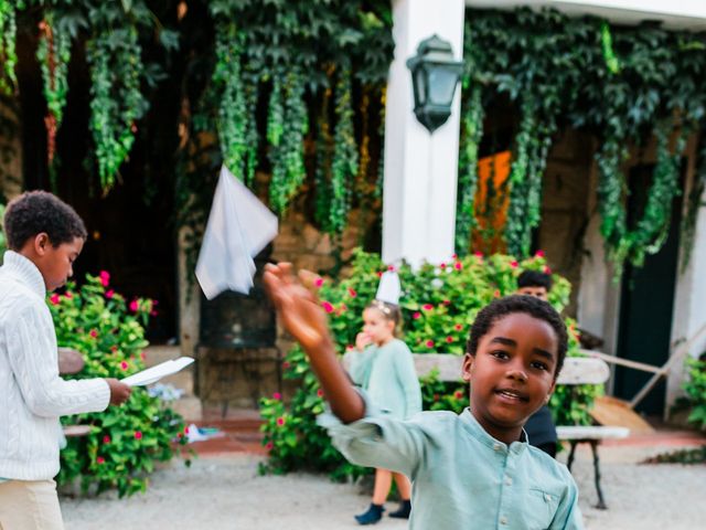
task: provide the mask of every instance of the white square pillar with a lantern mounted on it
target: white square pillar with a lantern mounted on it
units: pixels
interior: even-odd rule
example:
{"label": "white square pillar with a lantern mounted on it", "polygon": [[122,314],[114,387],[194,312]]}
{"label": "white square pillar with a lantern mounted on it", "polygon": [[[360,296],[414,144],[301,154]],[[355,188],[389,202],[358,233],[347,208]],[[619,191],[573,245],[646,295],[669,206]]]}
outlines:
{"label": "white square pillar with a lantern mounted on it", "polygon": [[414,115],[406,62],[422,40],[439,35],[463,54],[463,0],[393,0],[395,59],[387,82],[383,261],[413,265],[453,254],[460,86],[448,121],[434,135]]}

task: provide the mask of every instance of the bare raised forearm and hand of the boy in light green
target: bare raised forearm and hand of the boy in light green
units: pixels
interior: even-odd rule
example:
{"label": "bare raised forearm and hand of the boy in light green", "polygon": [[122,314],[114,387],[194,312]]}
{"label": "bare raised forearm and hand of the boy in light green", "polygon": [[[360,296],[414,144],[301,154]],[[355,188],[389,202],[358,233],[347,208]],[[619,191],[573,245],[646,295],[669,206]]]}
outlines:
{"label": "bare raised forearm and hand of the boy in light green", "polygon": [[307,352],[331,411],[352,423],[364,416],[365,403],[336,359],[325,312],[312,294],[314,278],[307,271],[295,276],[289,263],[265,267],[265,287],[285,329]]}

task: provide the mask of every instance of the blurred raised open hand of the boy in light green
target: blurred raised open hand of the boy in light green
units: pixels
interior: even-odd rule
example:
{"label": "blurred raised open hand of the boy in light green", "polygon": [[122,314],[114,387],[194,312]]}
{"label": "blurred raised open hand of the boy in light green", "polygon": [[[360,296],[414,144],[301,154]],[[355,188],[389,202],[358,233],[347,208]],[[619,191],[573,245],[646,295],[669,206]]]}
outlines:
{"label": "blurred raised open hand of the boy in light green", "polygon": [[300,271],[297,278],[290,263],[265,266],[265,287],[285,329],[309,353],[331,341],[327,315],[312,294],[315,278],[308,271]]}

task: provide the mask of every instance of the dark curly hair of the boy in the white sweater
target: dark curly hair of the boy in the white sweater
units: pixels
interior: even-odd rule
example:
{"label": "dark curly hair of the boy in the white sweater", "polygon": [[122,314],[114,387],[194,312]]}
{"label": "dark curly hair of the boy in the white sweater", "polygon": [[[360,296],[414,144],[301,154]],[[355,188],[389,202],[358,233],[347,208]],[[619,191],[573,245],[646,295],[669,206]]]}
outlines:
{"label": "dark curly hair of the boy in the white sweater", "polygon": [[14,198],[4,212],[8,248],[19,251],[30,237],[45,232],[52,246],[86,239],[86,226],[78,214],[46,191],[28,191]]}

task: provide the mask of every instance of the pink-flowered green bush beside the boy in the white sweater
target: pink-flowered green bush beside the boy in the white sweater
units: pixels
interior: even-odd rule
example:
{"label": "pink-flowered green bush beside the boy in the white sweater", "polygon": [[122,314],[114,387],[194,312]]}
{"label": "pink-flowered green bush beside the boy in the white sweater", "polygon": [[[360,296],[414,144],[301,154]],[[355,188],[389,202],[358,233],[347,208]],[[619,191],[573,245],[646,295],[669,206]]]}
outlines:
{"label": "pink-flowered green bush beside the boy in the white sweater", "polygon": [[[129,303],[110,288],[110,275],[86,276],[81,288],[69,283],[64,294],[49,297],[60,346],[83,353],[84,369],[76,375],[122,379],[145,368],[145,328],[156,301]],[[90,425],[88,436],[68,438],[61,453],[57,481],[81,477],[82,489],[97,492],[117,488],[120,496],[143,491],[156,460],[174,455],[174,441],[186,443],[181,416],[142,388],[135,388],[121,406],[101,413],[62,418],[64,424]]]}

